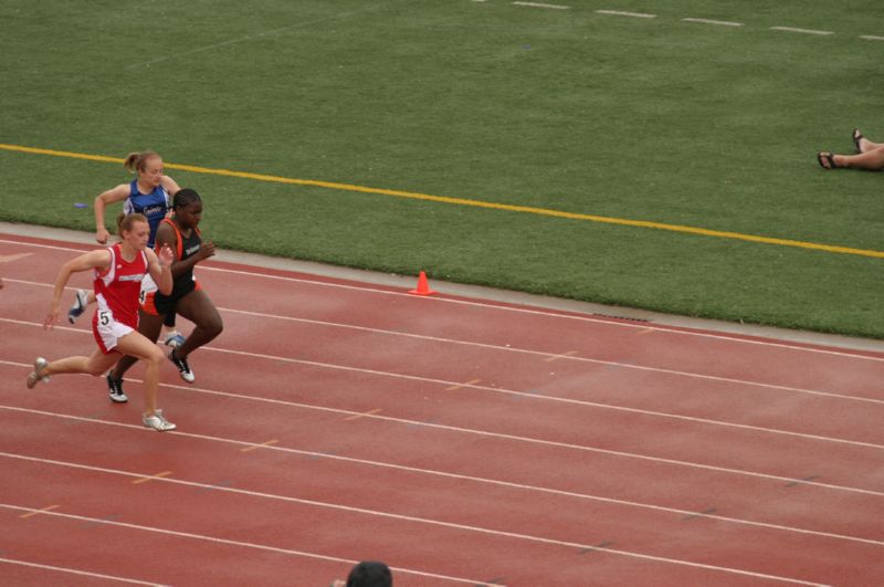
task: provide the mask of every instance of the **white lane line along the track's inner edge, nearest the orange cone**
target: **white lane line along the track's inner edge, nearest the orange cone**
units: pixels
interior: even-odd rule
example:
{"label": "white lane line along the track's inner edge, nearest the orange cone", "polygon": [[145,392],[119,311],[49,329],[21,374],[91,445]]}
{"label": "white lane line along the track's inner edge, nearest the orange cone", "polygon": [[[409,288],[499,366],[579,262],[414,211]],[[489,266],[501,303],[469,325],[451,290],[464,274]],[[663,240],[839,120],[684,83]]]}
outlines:
{"label": "white lane line along the track's inner edge, nearest the orange cone", "polygon": [[[94,248],[73,249],[73,248],[66,248],[66,247],[55,247],[55,245],[49,245],[49,244],[36,244],[36,243],[20,242],[20,241],[3,240],[3,239],[0,239],[0,242],[4,242],[4,243],[9,243],[9,244],[19,244],[19,245],[22,245],[22,247],[39,247],[39,248],[44,248],[44,249],[54,249],[54,250],[59,250],[59,251],[71,251],[71,252],[76,252],[76,253],[83,253],[83,252],[91,251],[91,250],[94,249]],[[234,270],[234,269],[223,269],[223,268],[211,266],[211,265],[200,265],[199,270],[200,271],[214,271],[214,272],[219,272],[219,273],[232,273],[232,274],[235,274],[235,275],[243,275],[243,276],[249,276],[249,277],[261,277],[261,279],[266,279],[266,280],[284,281],[284,282],[290,282],[290,283],[302,283],[302,284],[306,284],[306,285],[314,285],[314,286],[320,286],[320,287],[335,287],[335,289],[341,289],[341,290],[352,290],[352,291],[357,291],[357,292],[360,292],[360,293],[371,293],[371,294],[380,294],[380,295],[401,296],[401,297],[407,297],[409,300],[413,300],[414,298],[413,295],[410,295],[404,291],[399,292],[399,291],[390,291],[390,290],[378,290],[376,287],[371,287],[371,286],[367,286],[367,285],[349,285],[349,284],[344,284],[344,283],[329,283],[329,282],[317,281],[317,280],[308,280],[308,279],[303,279],[303,277],[290,277],[290,276],[284,276],[284,275],[272,275],[272,274],[269,274],[269,273],[261,273],[261,272],[257,272],[257,271],[243,271],[243,270]],[[288,272],[287,270],[281,270],[281,271]],[[294,272],[291,272],[291,273],[294,273]],[[4,279],[8,279],[8,277],[4,277]],[[52,284],[29,282],[29,281],[23,281],[23,280],[8,279],[8,281],[15,282],[15,283],[25,283],[25,284],[52,287]],[[682,329],[664,328],[664,327],[657,327],[657,326],[653,326],[653,325],[649,325],[649,324],[629,324],[629,323],[625,323],[625,322],[615,322],[615,321],[610,321],[610,319],[596,318],[596,317],[587,316],[587,315],[575,315],[575,314],[565,314],[565,313],[555,312],[555,311],[545,311],[543,308],[512,307],[512,306],[507,306],[507,305],[497,305],[497,304],[486,303],[486,302],[475,302],[475,301],[470,301],[470,300],[452,300],[452,298],[448,298],[448,297],[435,297],[435,296],[434,297],[425,297],[425,298],[422,298],[422,301],[424,303],[456,304],[456,305],[481,307],[483,310],[493,310],[493,311],[498,311],[498,312],[513,312],[513,313],[519,313],[519,314],[544,316],[544,317],[549,317],[549,318],[560,318],[560,319],[587,322],[587,323],[593,323],[593,324],[602,324],[602,325],[612,326],[612,327],[640,328],[640,329],[653,328],[655,331],[659,331],[662,334],[672,334],[672,335],[680,335],[680,336],[696,336],[696,337],[699,337],[699,338],[714,338],[714,339],[720,339],[720,340],[734,342],[734,343],[740,343],[740,344],[747,344],[747,345],[760,345],[760,346],[766,346],[766,347],[786,348],[786,349],[789,349],[789,350],[799,350],[799,352],[806,352],[806,353],[819,353],[819,354],[825,354],[825,355],[843,356],[843,357],[850,357],[850,358],[855,358],[855,359],[866,359],[866,360],[875,360],[875,361],[884,363],[884,357],[870,357],[870,356],[866,356],[866,355],[846,353],[846,352],[843,352],[843,350],[831,350],[831,349],[825,349],[825,348],[812,348],[812,347],[809,348],[809,347],[806,347],[806,346],[792,345],[792,344],[788,344],[788,343],[783,343],[783,342],[776,342],[775,343],[775,342],[769,342],[769,340],[754,340],[754,339],[741,338],[741,337],[738,337],[738,336],[728,336],[728,335],[725,335],[725,334],[715,334],[715,333],[706,333],[706,332],[695,332],[695,331],[682,331]],[[562,312],[565,312],[565,311],[562,311]]]}

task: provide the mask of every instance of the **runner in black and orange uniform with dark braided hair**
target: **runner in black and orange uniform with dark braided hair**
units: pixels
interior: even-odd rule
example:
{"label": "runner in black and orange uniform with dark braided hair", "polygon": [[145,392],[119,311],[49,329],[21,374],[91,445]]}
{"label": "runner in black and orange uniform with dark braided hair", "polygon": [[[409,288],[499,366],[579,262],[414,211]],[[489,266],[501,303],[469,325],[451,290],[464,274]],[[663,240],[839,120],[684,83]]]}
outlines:
{"label": "runner in black and orange uniform with dark braided hair", "polygon": [[[166,248],[175,253],[172,262],[172,291],[168,295],[160,292],[149,293],[141,301],[138,332],[156,342],[165,316],[179,314],[194,324],[193,332],[179,347],[169,353],[181,378],[192,384],[193,371],[190,370],[187,357],[190,353],[208,344],[223,329],[224,325],[218,310],[202,291],[193,277],[193,266],[204,259],[213,256],[214,244],[203,241],[199,223],[202,217],[202,200],[194,190],[182,189],[175,195],[175,214],[164,219],[157,229],[157,249]],[[107,387],[110,399],[117,402],[127,400],[123,392],[123,376],[138,359],[125,356],[116,367],[107,373]]]}

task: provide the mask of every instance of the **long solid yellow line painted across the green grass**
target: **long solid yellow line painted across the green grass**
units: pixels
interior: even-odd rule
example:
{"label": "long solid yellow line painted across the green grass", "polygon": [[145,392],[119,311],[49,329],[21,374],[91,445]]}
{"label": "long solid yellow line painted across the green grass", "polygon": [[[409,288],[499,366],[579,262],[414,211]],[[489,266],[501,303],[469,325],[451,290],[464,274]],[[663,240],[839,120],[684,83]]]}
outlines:
{"label": "long solid yellow line painted across the green grass", "polygon": [[[87,155],[83,153],[71,153],[65,150],[40,149],[34,147],[23,147],[20,145],[4,145],[0,143],[0,149],[32,153],[35,155],[51,155],[53,157],[71,157],[74,159],[86,159],[91,161],[102,163],[117,163],[122,164],[124,159],[118,157],[105,157],[103,155]],[[238,177],[242,179],[254,179],[256,181],[270,181],[274,184],[291,184],[295,186],[313,186],[317,188],[336,189],[341,191],[358,191],[362,193],[377,193],[381,196],[392,196],[396,198],[409,198],[412,200],[425,200],[441,203],[451,203],[455,206],[472,206],[475,208],[487,208],[492,210],[505,210],[508,212],[522,212],[538,216],[548,216],[554,218],[567,218],[569,220],[587,220],[590,222],[602,222],[607,224],[619,224],[623,227],[648,228],[656,230],[667,230],[672,232],[682,232],[687,234],[699,234],[703,237],[714,237],[719,239],[734,239],[748,242],[759,242],[764,244],[777,244],[780,247],[797,247],[799,249],[810,249],[814,251],[825,251],[829,253],[843,253],[861,256],[872,256],[884,259],[884,251],[874,251],[867,249],[851,249],[849,247],[838,247],[834,244],[822,244],[815,242],[796,241],[790,239],[775,239],[771,237],[758,237],[756,234],[743,234],[740,232],[729,232],[723,230],[709,230],[697,227],[686,227],[681,224],[666,224],[663,222],[652,222],[648,220],[630,220],[625,218],[611,218],[596,214],[582,214],[577,212],[565,212],[561,210],[549,210],[546,208],[534,208],[530,206],[514,206],[509,203],[495,203],[482,200],[467,200],[465,198],[450,198],[448,196],[432,196],[430,193],[420,193],[413,191],[400,191],[383,188],[369,188],[366,186],[355,186],[351,184],[338,184],[334,181],[319,181],[316,179],[296,179],[291,177],[267,176],[263,174],[251,174],[248,171],[232,171],[230,169],[213,169],[209,167],[194,167],[192,165],[180,164],[165,164],[167,169],[178,169],[181,171],[191,171],[193,174],[208,174],[213,176]]]}

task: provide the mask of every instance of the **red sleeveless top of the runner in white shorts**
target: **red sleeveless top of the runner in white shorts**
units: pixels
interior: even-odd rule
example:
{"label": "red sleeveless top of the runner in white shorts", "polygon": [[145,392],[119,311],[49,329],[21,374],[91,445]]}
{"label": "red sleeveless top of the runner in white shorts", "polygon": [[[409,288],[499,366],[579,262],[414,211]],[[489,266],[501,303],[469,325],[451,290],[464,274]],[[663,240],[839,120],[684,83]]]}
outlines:
{"label": "red sleeveless top of the runner in white shorts", "polygon": [[138,328],[138,294],[141,280],[147,273],[147,255],[140,251],[133,261],[123,259],[119,243],[108,247],[110,266],[106,271],[95,270],[95,301],[98,311],[93,317],[97,324],[98,314],[109,311],[114,321]]}

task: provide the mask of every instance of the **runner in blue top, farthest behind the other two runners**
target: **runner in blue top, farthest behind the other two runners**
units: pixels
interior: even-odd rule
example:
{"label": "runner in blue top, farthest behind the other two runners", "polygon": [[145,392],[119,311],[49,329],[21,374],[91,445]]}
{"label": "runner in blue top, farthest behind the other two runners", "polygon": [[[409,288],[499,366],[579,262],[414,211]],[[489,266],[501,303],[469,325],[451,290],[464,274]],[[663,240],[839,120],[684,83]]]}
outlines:
{"label": "runner in blue top, farthest behind the other two runners", "polygon": [[[128,184],[120,184],[115,188],[102,192],[95,198],[95,240],[107,244],[110,235],[104,223],[104,212],[109,203],[123,202],[123,212],[126,214],[139,213],[147,218],[150,226],[150,237],[147,242],[154,249],[157,228],[171,209],[171,198],[181,189],[172,178],[162,172],[162,159],[152,150],[130,153],[123,164],[129,171],[138,174],[136,179]],[[152,282],[145,283],[146,290],[156,289]],[[86,306],[95,302],[95,293],[77,290],[74,304],[67,311],[67,321],[76,322]],[[167,316],[165,326],[167,333],[164,342],[169,346],[178,346],[185,337],[175,331],[175,314]]]}

